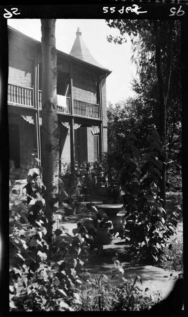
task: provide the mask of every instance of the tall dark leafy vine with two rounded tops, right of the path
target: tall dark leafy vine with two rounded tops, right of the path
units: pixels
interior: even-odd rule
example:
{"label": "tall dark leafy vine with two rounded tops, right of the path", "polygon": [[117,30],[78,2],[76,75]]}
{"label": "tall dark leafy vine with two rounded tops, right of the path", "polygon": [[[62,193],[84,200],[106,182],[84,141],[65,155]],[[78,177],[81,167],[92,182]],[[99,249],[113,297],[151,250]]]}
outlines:
{"label": "tall dark leafy vine with two rounded tops, right of the path", "polygon": [[[167,217],[158,196],[162,163],[158,159],[160,137],[151,129],[146,148],[139,151],[134,134],[127,132],[122,142],[121,183],[125,192],[125,230],[119,234],[125,238],[125,247],[132,260],[156,263],[164,256],[168,239],[176,231],[179,212]],[[121,158],[119,159],[119,161]]]}

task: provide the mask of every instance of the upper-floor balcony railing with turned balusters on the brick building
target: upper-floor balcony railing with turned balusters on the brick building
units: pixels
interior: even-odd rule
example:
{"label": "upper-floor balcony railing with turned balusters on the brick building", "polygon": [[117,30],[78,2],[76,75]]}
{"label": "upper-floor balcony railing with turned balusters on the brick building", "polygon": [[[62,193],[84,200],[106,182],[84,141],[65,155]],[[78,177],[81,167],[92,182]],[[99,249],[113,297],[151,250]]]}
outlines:
{"label": "upper-floor balcony railing with turned balusters on the brick building", "polygon": [[[34,91],[33,88],[20,87],[8,84],[8,104],[13,106],[24,106],[29,108],[34,107]],[[38,91],[39,110],[42,110],[42,91]],[[59,114],[70,114],[70,97],[66,97],[66,105],[58,105]],[[100,119],[99,104],[86,103],[80,100],[73,99],[73,115]]]}

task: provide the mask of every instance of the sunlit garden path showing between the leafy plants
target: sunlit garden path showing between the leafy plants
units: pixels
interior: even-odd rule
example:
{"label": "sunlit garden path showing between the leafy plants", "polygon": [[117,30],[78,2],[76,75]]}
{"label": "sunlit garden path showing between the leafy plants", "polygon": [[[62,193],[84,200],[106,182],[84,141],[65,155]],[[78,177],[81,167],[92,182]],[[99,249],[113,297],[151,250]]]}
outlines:
{"label": "sunlit garden path showing between the leafy plants", "polygon": [[[118,215],[121,215],[121,212]],[[82,218],[81,214],[71,215],[64,218],[63,225],[69,230],[70,234],[72,234],[72,229],[77,227],[76,222],[80,218]],[[177,238],[178,240],[183,239],[182,222],[178,224]],[[89,264],[87,265],[87,269],[88,272],[91,274],[91,277],[95,279],[96,274],[98,277],[102,274],[105,274],[108,276],[108,279],[112,284],[118,285],[120,283],[118,278],[113,278],[111,280],[111,277],[117,272],[112,261],[112,257],[114,257],[114,255],[117,253],[119,255],[118,260],[124,268],[123,276],[125,278],[135,278],[137,275],[139,275],[142,280],[142,285],[139,280],[137,281],[137,286],[139,288],[144,290],[146,287],[148,287],[148,292],[153,293],[160,291],[163,298],[168,296],[173,288],[176,276],[178,276],[179,272],[168,271],[152,265],[139,266],[125,262],[122,257],[124,245],[120,243],[120,240],[120,238],[115,238],[110,245],[103,246],[103,251],[98,256],[96,256],[96,250],[93,251],[90,256]]]}

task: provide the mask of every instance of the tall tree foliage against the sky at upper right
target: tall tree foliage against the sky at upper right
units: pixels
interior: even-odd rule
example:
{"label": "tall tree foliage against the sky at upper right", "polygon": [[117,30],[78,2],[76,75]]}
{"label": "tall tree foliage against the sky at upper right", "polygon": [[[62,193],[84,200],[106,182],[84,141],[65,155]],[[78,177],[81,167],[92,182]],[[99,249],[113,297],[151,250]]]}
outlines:
{"label": "tall tree foliage against the sky at upper right", "polygon": [[[132,61],[137,67],[137,77],[132,82],[132,89],[136,95],[126,101],[124,108],[120,109],[122,102],[116,105],[114,111],[111,108],[110,112],[117,118],[120,113],[120,125],[124,117],[125,125],[131,127],[131,131],[135,133],[141,146],[142,140],[147,135],[147,127],[155,128],[161,134],[162,120],[158,86],[164,83],[167,112],[167,134],[164,147],[164,153],[167,156],[167,184],[176,189],[177,186],[181,188],[179,177],[181,174],[182,108],[180,22],[160,20],[157,24],[158,43],[155,41],[156,30],[153,20],[107,20],[110,28],[116,28],[120,32],[120,36],[109,36],[108,41],[122,44],[129,37],[132,43]],[[162,80],[160,83],[156,68],[156,45],[160,46],[161,54]],[[110,118],[109,114],[108,117]],[[111,129],[111,124],[109,126]],[[118,148],[119,143],[116,144],[112,140],[113,138],[109,138],[109,143],[113,143]],[[173,182],[172,175],[174,175]]]}

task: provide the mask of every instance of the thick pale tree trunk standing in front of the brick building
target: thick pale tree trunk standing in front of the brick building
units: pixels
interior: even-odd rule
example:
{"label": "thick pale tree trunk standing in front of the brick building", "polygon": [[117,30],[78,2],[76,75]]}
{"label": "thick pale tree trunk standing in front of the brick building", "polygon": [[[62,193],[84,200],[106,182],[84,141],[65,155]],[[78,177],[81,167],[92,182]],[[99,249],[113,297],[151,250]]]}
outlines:
{"label": "thick pale tree trunk standing in front of the brick building", "polygon": [[[42,167],[44,198],[49,221],[57,210],[59,191],[59,138],[57,114],[56,19],[41,19],[42,31]],[[52,226],[49,232],[52,230]]]}

